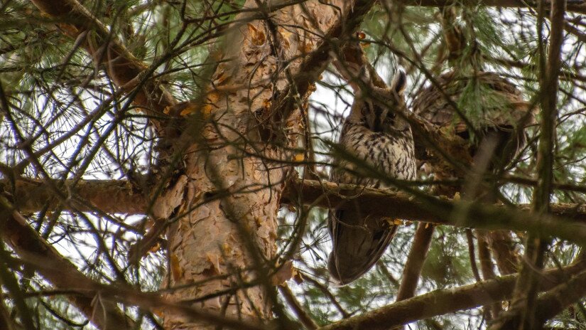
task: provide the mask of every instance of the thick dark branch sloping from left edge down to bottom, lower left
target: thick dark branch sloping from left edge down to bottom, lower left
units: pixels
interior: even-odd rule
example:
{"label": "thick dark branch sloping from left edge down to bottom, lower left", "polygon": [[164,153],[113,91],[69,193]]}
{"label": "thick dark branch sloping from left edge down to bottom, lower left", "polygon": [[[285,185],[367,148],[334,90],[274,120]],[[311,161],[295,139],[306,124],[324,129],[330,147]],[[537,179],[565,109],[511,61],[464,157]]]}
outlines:
{"label": "thick dark branch sloping from left edge down to bottom, lower left", "polygon": [[[0,235],[21,260],[40,272],[57,289],[70,294],[67,299],[85,314],[99,329],[134,329],[131,319],[121,314],[117,303],[145,309],[168,308],[187,319],[203,319],[233,329],[263,330],[259,324],[208,313],[201,309],[175,304],[162,299],[158,293],[144,293],[122,284],[106,285],[89,279],[75,265],[61,256],[53,246],[40,238],[26,220],[16,212],[6,198],[0,196]],[[96,303],[96,299],[100,299]]]}

